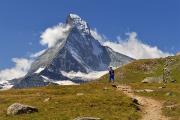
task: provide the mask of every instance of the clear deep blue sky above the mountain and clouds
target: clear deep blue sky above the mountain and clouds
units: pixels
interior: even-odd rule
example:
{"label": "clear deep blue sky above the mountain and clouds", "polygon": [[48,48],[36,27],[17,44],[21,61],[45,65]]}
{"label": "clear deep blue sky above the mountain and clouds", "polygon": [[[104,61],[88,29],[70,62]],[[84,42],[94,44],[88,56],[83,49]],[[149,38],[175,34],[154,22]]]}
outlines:
{"label": "clear deep blue sky above the mountain and clouds", "polygon": [[107,38],[135,31],[146,44],[180,51],[180,0],[0,0],[0,70],[45,47],[40,34],[77,13]]}

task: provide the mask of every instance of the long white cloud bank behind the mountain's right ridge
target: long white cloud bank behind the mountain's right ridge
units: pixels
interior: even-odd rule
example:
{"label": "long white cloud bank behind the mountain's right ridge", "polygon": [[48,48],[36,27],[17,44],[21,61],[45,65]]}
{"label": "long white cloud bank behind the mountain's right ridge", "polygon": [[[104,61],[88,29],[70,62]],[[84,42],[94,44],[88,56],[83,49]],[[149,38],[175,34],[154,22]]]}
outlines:
{"label": "long white cloud bank behind the mountain's right ridge", "polygon": [[114,51],[125,54],[132,58],[143,59],[143,58],[159,58],[172,55],[168,52],[163,52],[157,46],[150,46],[148,44],[142,43],[137,38],[136,32],[126,33],[127,39],[121,40],[118,36],[118,42],[112,42],[111,40],[105,40],[97,30],[92,30],[94,38],[99,40],[102,45],[112,48]]}

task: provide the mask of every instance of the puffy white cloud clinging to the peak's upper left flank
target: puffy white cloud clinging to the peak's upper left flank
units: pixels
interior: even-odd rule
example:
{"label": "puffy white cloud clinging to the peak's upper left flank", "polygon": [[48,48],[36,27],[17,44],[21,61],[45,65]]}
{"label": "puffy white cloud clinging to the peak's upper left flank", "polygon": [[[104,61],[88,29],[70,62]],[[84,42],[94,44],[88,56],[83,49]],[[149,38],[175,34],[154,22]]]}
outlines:
{"label": "puffy white cloud clinging to the peak's upper left flank", "polygon": [[58,24],[54,27],[47,28],[40,36],[41,45],[48,45],[48,47],[53,47],[57,41],[63,40],[67,37],[70,30],[69,25]]}

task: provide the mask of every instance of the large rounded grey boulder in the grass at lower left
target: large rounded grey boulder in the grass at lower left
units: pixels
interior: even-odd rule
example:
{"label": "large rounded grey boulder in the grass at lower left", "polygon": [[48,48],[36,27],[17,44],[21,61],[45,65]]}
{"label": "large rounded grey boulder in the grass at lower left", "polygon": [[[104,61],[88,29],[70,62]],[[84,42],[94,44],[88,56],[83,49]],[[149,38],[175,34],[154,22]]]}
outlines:
{"label": "large rounded grey boulder in the grass at lower left", "polygon": [[36,107],[23,105],[20,103],[14,103],[7,109],[8,115],[28,114],[33,112],[38,112],[38,109]]}

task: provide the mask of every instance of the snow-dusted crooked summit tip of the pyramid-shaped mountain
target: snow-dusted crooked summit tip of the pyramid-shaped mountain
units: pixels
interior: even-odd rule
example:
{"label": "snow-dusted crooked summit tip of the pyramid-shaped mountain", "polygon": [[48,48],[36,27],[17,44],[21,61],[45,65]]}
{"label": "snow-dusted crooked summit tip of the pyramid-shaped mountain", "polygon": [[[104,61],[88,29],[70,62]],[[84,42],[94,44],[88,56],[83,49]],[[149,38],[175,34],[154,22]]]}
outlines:
{"label": "snow-dusted crooked summit tip of the pyramid-shaped mountain", "polygon": [[77,14],[69,14],[66,23],[72,27],[76,27],[84,35],[91,34],[88,23]]}

